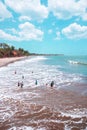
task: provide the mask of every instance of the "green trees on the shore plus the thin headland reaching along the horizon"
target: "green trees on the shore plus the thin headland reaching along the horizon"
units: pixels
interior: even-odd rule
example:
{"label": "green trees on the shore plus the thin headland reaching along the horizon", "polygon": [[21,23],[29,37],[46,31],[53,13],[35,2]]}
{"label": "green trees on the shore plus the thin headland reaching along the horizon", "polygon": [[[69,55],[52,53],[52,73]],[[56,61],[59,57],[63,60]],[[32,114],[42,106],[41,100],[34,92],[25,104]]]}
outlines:
{"label": "green trees on the shore plus the thin headland reaching along the horizon", "polygon": [[16,49],[14,46],[10,46],[7,43],[0,43],[0,58],[4,57],[20,57],[20,56],[59,56],[63,54],[38,54],[30,53],[29,51],[24,50],[23,48]]}

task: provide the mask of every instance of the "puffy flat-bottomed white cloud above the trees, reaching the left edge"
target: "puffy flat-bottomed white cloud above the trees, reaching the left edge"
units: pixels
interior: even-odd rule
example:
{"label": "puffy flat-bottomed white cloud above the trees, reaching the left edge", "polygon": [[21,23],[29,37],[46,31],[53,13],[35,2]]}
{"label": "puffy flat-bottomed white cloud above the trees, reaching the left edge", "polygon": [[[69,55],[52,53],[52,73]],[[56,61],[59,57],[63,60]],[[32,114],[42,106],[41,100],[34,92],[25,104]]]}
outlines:
{"label": "puffy flat-bottomed white cloud above the trees, reaching the left edge", "polygon": [[41,41],[43,38],[43,32],[37,29],[33,24],[26,22],[19,25],[19,30],[7,29],[8,33],[0,30],[0,38],[9,41]]}

